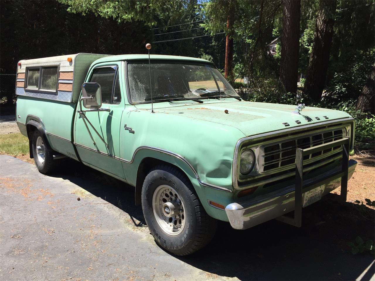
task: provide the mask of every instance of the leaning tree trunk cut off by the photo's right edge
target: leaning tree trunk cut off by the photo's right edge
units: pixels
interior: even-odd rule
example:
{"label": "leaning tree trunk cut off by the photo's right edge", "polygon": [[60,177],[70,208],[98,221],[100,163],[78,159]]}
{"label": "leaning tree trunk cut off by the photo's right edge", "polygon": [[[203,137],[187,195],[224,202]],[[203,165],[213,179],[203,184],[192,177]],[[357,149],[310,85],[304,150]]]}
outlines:
{"label": "leaning tree trunk cut off by the photo's right edge", "polygon": [[375,63],[372,66],[369,78],[363,87],[358,100],[356,102],[356,109],[362,112],[370,112],[375,114]]}

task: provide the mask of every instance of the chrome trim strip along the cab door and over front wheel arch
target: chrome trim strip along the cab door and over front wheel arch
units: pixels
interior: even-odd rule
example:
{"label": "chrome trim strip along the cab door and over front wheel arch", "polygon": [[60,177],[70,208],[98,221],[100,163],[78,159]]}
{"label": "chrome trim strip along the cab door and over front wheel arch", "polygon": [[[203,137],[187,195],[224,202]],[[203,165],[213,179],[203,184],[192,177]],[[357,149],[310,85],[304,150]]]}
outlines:
{"label": "chrome trim strip along the cab door and over front wheel arch", "polygon": [[217,185],[213,185],[213,184],[208,184],[204,181],[202,181],[200,178],[199,178],[199,175],[198,173],[196,172],[196,170],[194,169],[194,167],[192,166],[192,164],[189,163],[189,161],[187,161],[184,157],[182,157],[181,155],[177,154],[177,153],[174,153],[174,152],[171,152],[171,151],[168,151],[168,150],[164,150],[164,149],[161,149],[161,148],[156,148],[156,147],[152,147],[152,146],[139,146],[137,149],[135,149],[134,151],[134,154],[133,154],[133,157],[131,160],[126,160],[126,159],[123,159],[123,158],[120,158],[120,157],[117,157],[115,155],[111,155],[111,154],[108,154],[108,153],[105,153],[103,151],[100,151],[100,150],[96,150],[96,149],[93,149],[93,148],[90,148],[86,145],[82,145],[80,143],[77,143],[77,142],[74,142],[75,145],[77,146],[80,146],[82,148],[86,148],[86,149],[89,149],[93,152],[97,152],[99,154],[102,154],[102,155],[106,155],[108,157],[111,157],[111,158],[115,158],[117,160],[120,160],[121,162],[124,162],[124,163],[127,163],[127,164],[132,164],[133,161],[134,161],[134,158],[135,158],[135,155],[136,153],[141,150],[141,149],[148,149],[148,150],[153,150],[153,151],[157,151],[157,152],[161,152],[161,153],[164,153],[164,154],[167,154],[167,155],[171,155],[173,157],[176,157],[178,159],[180,159],[181,161],[183,161],[184,163],[187,164],[187,166],[190,167],[190,169],[192,170],[192,172],[194,173],[195,175],[195,178],[198,180],[199,184],[201,185],[204,185],[205,187],[210,187],[210,188],[213,188],[213,189],[216,189],[216,190],[221,190],[221,191],[225,191],[225,192],[233,192],[232,190],[228,189],[228,188],[225,188],[225,187],[219,187]]}

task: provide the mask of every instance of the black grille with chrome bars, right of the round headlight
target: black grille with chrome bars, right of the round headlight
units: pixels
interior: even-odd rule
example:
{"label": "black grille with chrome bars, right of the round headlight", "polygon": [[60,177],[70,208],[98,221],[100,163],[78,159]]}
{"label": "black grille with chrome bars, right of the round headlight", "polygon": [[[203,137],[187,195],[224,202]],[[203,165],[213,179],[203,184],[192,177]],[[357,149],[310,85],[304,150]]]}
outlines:
{"label": "black grille with chrome bars, right of the round headlight", "polygon": [[[321,145],[323,143],[336,141],[342,138],[342,129],[335,128],[309,135],[299,135],[287,140],[284,139],[277,143],[274,142],[262,145],[260,148],[261,151],[263,150],[263,161],[261,160],[260,172],[280,169],[282,167],[286,167],[296,163],[297,148],[305,149],[312,146]],[[314,161],[314,158],[318,160],[322,157],[325,157],[326,155],[328,156],[335,153],[339,149],[341,149],[341,146],[306,155],[304,157],[304,160],[309,161],[310,159],[310,161]]]}

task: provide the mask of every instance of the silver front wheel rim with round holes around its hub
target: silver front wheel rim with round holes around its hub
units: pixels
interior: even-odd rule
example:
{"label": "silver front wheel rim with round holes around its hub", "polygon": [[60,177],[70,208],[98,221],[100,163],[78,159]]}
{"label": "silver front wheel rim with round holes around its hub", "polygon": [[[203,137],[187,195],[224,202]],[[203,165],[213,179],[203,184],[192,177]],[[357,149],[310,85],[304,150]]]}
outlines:
{"label": "silver front wheel rim with round holes around its hub", "polygon": [[152,209],[157,224],[168,235],[178,235],[184,229],[184,204],[180,195],[169,185],[156,188],[152,197]]}

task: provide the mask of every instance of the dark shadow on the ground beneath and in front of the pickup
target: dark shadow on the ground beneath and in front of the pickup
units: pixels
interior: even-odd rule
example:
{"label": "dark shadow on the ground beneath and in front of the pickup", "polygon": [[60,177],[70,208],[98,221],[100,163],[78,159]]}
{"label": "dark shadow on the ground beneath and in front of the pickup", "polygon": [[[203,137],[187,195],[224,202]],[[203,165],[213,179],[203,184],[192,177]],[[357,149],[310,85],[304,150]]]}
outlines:
{"label": "dark shadow on the ground beneath and in front of the pickup", "polygon": [[[145,227],[142,208],[135,206],[134,188],[68,160],[56,177],[74,182],[125,211],[135,226]],[[195,268],[240,280],[356,280],[374,261],[367,253],[353,255],[347,242],[356,236],[374,239],[374,210],[338,202],[336,194],[303,209],[302,227],[276,220],[247,230],[220,222],[213,241],[190,256],[177,257]],[[374,265],[360,280],[374,275]]]}

